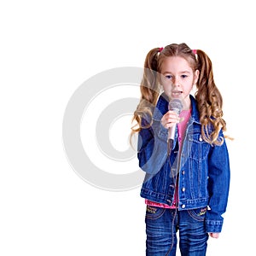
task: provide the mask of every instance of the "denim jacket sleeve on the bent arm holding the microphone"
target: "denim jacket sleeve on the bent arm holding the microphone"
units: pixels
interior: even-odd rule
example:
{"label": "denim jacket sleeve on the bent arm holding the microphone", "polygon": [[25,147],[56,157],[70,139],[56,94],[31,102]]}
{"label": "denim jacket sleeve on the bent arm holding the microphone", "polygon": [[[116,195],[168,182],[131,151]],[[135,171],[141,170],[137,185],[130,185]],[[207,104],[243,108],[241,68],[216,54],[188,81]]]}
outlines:
{"label": "denim jacket sleeve on the bent arm holding the microphone", "polygon": [[167,134],[168,130],[157,120],[139,132],[137,157],[144,172],[155,174],[164,165],[167,158]]}

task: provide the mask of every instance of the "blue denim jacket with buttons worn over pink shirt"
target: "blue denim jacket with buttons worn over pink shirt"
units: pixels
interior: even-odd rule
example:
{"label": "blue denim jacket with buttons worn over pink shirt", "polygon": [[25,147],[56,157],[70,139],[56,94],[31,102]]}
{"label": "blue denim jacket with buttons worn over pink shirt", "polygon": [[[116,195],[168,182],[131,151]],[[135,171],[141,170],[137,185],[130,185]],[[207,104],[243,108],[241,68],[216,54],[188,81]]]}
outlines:
{"label": "blue denim jacket with buttons worn over pink shirt", "polygon": [[[230,161],[226,143],[206,143],[201,137],[201,123],[196,101],[190,96],[192,112],[179,148],[177,132],[172,152],[167,156],[168,130],[160,119],[168,111],[162,94],[153,112],[153,123],[139,132],[139,166],[146,172],[141,196],[150,201],[172,205],[178,181],[178,211],[207,207],[207,232],[222,229],[230,188]],[[149,120],[143,119],[143,124]],[[177,129],[177,128],[176,128]],[[222,131],[219,137],[223,137]],[[223,137],[224,139],[224,137]]]}

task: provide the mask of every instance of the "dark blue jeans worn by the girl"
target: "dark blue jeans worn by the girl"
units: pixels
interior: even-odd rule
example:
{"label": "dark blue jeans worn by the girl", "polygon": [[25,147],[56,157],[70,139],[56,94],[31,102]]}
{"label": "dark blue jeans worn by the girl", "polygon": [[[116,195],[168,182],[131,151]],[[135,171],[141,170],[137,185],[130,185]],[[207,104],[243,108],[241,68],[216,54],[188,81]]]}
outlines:
{"label": "dark blue jeans worn by the girl", "polygon": [[207,253],[208,234],[205,228],[207,207],[177,211],[147,206],[146,255],[176,255],[177,230],[182,256],[203,256]]}

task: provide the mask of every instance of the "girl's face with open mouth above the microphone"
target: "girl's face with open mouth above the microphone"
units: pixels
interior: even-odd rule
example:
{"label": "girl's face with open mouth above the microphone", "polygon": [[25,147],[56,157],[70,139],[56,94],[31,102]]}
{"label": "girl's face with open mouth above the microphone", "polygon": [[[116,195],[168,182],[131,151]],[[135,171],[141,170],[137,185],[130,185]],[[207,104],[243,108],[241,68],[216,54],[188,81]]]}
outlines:
{"label": "girl's face with open mouth above the microphone", "polygon": [[163,60],[160,73],[160,82],[169,99],[178,98],[190,108],[189,94],[197,82],[199,71],[193,72],[184,58],[172,56]]}

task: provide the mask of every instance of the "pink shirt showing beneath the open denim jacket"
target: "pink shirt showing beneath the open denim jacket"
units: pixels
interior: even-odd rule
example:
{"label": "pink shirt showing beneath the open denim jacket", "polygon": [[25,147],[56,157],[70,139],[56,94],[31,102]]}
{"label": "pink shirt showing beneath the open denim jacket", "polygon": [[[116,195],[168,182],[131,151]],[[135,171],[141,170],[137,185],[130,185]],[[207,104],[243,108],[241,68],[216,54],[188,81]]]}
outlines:
{"label": "pink shirt showing beneath the open denim jacket", "polygon": [[[179,117],[181,118],[181,122],[177,124],[177,140],[179,143],[179,147],[182,146],[184,133],[186,131],[190,116],[191,116],[191,109],[183,110],[179,115]],[[172,206],[168,206],[166,204],[162,204],[162,203],[158,203],[158,202],[154,202],[154,201],[149,201],[148,199],[145,200],[145,203],[151,207],[175,209],[176,202],[178,201],[177,197],[178,197],[178,193],[177,193],[177,186],[176,186],[175,194],[174,194],[174,201],[172,203]]]}

